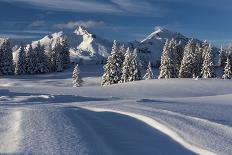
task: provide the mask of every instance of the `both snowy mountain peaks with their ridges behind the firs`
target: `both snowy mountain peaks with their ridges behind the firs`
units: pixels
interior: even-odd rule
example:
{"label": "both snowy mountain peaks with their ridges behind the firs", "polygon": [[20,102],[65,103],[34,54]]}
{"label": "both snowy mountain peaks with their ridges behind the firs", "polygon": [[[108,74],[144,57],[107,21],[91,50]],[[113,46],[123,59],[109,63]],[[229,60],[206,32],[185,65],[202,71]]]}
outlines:
{"label": "both snowy mountain peaks with their ridges behind the firs", "polygon": [[[74,32],[57,32],[45,36],[41,40],[33,41],[32,44],[41,42],[45,47],[50,43],[54,44],[57,40],[67,37],[70,44],[71,60],[85,64],[100,64],[106,61],[110,55],[112,48],[112,41],[101,38],[94,33],[89,32],[86,28],[79,26]],[[181,33],[172,32],[165,28],[157,28],[148,37],[142,41],[133,41],[124,43],[125,46],[137,48],[139,57],[143,62],[151,61],[156,66],[159,64],[160,57],[163,51],[163,46],[166,39],[174,38],[178,42],[181,41],[183,46],[190,38]],[[198,39],[194,39],[197,43],[202,43]],[[215,61],[218,59],[218,49],[214,48]]]}

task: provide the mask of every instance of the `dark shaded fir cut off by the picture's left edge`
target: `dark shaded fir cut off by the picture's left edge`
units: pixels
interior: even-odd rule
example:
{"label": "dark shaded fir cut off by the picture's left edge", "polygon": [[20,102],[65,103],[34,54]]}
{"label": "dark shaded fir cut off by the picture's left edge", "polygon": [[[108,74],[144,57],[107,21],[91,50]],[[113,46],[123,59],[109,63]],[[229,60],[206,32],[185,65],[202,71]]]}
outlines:
{"label": "dark shaded fir cut off by the picture's left edge", "polygon": [[0,42],[0,75],[14,74],[13,55],[8,39]]}

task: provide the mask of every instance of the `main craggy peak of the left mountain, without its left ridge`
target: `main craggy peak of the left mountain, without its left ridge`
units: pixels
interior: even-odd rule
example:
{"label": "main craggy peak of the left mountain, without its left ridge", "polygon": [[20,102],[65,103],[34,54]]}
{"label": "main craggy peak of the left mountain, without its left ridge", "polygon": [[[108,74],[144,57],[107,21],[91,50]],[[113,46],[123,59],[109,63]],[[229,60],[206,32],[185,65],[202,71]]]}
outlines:
{"label": "main craggy peak of the left mountain, without its left ridge", "polygon": [[85,29],[78,27],[73,33],[66,34],[72,59],[88,63],[102,63],[111,52],[112,42],[103,39]]}

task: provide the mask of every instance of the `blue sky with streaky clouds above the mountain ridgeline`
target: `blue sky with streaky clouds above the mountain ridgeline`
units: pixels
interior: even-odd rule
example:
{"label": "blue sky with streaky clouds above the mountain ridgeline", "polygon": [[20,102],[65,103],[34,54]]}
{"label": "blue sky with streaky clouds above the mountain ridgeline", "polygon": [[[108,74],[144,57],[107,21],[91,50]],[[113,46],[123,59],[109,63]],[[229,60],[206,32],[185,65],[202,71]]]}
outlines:
{"label": "blue sky with streaky clouds above the mountain ridgeline", "polygon": [[231,0],[0,0],[0,36],[35,40],[84,25],[128,41],[163,26],[219,45],[232,41],[231,14]]}

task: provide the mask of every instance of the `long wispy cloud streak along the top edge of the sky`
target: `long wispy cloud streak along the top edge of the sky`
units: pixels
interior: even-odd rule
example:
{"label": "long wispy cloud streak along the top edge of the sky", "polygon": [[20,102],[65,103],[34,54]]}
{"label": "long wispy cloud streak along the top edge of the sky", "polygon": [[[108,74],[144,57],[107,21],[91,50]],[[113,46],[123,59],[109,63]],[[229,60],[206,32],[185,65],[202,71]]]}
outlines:
{"label": "long wispy cloud streak along the top edge of the sky", "polygon": [[[37,8],[47,8],[55,11],[109,13],[120,15],[152,15],[161,16],[164,8],[149,0],[0,0],[8,3],[23,2]],[[157,1],[157,0],[155,0]]]}

